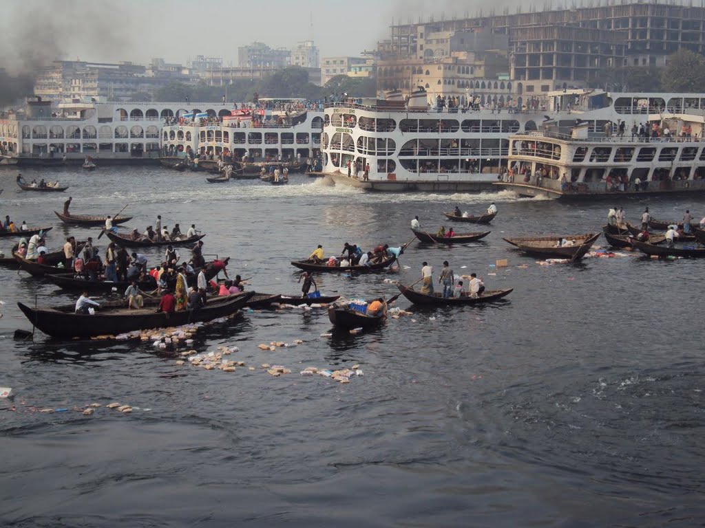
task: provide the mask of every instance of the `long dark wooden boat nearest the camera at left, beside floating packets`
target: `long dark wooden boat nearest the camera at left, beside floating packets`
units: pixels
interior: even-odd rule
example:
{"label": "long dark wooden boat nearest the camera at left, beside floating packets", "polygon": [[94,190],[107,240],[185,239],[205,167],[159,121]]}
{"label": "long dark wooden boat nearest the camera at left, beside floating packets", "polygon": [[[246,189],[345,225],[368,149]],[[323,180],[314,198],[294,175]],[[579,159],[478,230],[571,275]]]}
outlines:
{"label": "long dark wooden boat nearest the camera at left, beside floating packets", "polygon": [[254,294],[254,291],[248,291],[209,298],[203,308],[171,313],[156,312],[153,307],[130,310],[125,307],[124,301],[119,303],[120,306],[100,306],[93,315],[74,313],[74,306],[71,305],[30,308],[23,303],[17,304],[32,325],[44,334],[61,339],[75,339],[211,321],[233,315],[245,306]]}

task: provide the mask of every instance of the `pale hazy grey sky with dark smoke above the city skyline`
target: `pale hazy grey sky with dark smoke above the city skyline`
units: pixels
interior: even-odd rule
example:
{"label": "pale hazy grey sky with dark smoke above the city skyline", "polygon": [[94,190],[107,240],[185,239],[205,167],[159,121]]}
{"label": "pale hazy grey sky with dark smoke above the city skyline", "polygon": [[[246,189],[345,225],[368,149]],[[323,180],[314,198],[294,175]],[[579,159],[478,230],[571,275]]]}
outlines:
{"label": "pale hazy grey sky with dark smoke above the city skyline", "polygon": [[[238,46],[254,40],[290,48],[309,38],[321,56],[357,55],[389,37],[389,25],[434,14],[451,18],[489,6],[529,2],[495,0],[1,0],[0,61],[31,55],[87,61],[152,57],[186,63],[196,55],[222,56],[237,65]],[[537,4],[543,6],[546,1]],[[554,3],[554,4],[557,4]],[[313,30],[310,20],[313,18]],[[14,50],[15,53],[8,53]],[[0,66],[8,66],[7,63]]]}

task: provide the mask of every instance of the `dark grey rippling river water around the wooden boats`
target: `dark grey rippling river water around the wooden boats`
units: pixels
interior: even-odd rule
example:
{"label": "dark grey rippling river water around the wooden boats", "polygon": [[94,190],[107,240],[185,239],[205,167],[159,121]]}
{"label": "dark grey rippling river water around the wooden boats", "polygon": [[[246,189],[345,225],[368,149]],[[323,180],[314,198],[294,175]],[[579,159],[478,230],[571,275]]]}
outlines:
{"label": "dark grey rippling river water around the wooden boats", "polygon": [[[289,264],[317,244],[364,249],[437,230],[455,203],[498,216],[484,241],[413,242],[402,269],[317,277],[324,294],[391,296],[384,279],[415,282],[423,260],[439,272],[475,271],[488,289],[513,287],[503,303],[420,309],[371,332],[331,331],[324,310],[246,313],[210,327],[199,352],[238,346],[233,360],[257,370],[176,365],[148,344],[57,342],[31,329],[16,301],[65,303],[63,294],[0,269],[0,524],[19,527],[254,526],[661,526],[705,520],[705,365],[698,329],[703,265],[622,253],[578,265],[537,265],[502,238],[598,230],[609,204],[565,205],[513,194],[366,194],[292,175],[288,186],[207,184],[161,168],[24,170],[61,180],[63,194],[17,189],[0,172],[0,216],[54,225],[50,249],[69,233],[52,213],[73,196],[75,213],[114,214],[130,226],[157,214],[171,229],[207,232],[204,253],[231,256],[228,271],[252,289],[294,294]],[[66,196],[64,196],[66,195]],[[696,218],[705,201],[630,199],[636,222]],[[447,227],[447,225],[446,225]],[[462,225],[455,225],[463,230]],[[474,230],[470,227],[469,230]],[[97,231],[93,231],[95,236]],[[101,242],[103,242],[102,239]],[[603,239],[598,242],[604,245]],[[6,252],[11,244],[1,249]],[[104,249],[106,244],[101,244]],[[181,250],[182,254],[188,250]],[[157,253],[148,253],[157,260]],[[507,268],[494,268],[499,258]],[[519,267],[521,266],[521,267]],[[496,274],[496,275],[491,275]],[[262,351],[257,344],[305,341]],[[259,365],[284,365],[274,378]],[[359,364],[349,384],[303,377]],[[90,403],[128,403],[133,413]],[[41,408],[66,412],[39,413]]]}

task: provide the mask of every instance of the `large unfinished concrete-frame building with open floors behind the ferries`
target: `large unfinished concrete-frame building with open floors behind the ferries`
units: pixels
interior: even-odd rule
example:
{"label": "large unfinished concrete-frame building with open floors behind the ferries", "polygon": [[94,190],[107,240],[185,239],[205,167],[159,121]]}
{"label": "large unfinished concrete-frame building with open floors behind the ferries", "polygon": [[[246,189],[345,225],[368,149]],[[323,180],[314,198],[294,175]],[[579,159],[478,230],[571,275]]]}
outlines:
{"label": "large unfinished concrete-frame building with open floors behind the ferries", "polygon": [[[656,66],[679,49],[705,54],[705,8],[656,1],[393,25],[384,62],[428,53],[429,34],[481,32],[508,38],[510,79],[525,92],[595,84],[605,68]],[[410,89],[408,77],[399,88]],[[387,80],[386,84],[389,84]]]}

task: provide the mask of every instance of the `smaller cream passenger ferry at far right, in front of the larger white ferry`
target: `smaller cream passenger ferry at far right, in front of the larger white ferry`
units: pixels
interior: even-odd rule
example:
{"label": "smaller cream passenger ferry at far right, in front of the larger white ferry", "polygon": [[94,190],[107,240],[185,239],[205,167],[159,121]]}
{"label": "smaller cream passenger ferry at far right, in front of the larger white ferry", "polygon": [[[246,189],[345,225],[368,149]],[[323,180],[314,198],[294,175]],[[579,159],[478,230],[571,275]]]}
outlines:
{"label": "smaller cream passenger ferry at far right, in front of the larger white ferry", "polygon": [[[616,134],[616,135],[615,135]],[[640,131],[570,131],[556,122],[510,137],[508,171],[496,185],[522,196],[580,200],[705,191],[703,117],[662,113]]]}

